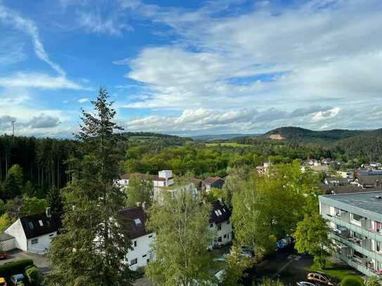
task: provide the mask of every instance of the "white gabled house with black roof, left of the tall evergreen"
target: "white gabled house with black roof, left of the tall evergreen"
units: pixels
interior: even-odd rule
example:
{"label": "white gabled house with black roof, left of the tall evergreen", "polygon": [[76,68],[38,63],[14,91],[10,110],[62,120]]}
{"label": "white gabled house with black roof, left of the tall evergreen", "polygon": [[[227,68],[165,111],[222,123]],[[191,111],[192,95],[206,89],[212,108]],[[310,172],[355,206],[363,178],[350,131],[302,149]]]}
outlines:
{"label": "white gabled house with black roof, left of the tall evergreen", "polygon": [[14,248],[43,254],[57,235],[61,221],[47,212],[20,217],[4,233],[14,238]]}

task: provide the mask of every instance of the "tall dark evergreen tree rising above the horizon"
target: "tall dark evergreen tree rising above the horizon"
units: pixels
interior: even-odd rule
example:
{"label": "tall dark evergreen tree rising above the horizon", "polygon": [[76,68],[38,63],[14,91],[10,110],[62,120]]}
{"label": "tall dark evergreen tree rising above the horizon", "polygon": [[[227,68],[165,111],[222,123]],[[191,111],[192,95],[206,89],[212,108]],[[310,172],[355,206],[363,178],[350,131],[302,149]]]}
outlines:
{"label": "tall dark evergreen tree rising above the horizon", "polygon": [[125,195],[113,181],[118,163],[113,131],[121,128],[113,122],[115,110],[106,89],[91,103],[94,113],[82,110],[77,135],[87,155],[71,164],[77,169],[63,190],[63,228],[49,251],[50,285],[131,285],[124,263],[131,243],[117,214]]}

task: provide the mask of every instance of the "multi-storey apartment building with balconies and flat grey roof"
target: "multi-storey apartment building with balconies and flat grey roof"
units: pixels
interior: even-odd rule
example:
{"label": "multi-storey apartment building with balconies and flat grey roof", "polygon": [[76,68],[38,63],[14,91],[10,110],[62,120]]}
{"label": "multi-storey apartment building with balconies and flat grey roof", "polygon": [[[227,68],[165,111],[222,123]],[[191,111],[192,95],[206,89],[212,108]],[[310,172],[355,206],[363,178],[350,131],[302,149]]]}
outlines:
{"label": "multi-storey apartment building with balconies and flat grey roof", "polygon": [[382,275],[382,192],[319,196],[336,257],[364,275]]}

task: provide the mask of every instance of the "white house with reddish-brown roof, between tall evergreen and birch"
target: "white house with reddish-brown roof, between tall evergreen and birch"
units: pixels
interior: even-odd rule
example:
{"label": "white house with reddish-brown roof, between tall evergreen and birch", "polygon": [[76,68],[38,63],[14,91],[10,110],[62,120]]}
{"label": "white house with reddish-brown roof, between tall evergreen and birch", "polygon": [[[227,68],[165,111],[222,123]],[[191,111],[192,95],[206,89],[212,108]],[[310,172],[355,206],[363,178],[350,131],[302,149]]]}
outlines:
{"label": "white house with reddish-brown roof, between tall evergreen and birch", "polygon": [[155,259],[155,255],[151,251],[151,242],[155,238],[155,233],[146,230],[147,215],[143,207],[122,209],[120,215],[125,221],[133,247],[127,253],[127,263],[130,269],[136,271],[139,267],[144,267]]}

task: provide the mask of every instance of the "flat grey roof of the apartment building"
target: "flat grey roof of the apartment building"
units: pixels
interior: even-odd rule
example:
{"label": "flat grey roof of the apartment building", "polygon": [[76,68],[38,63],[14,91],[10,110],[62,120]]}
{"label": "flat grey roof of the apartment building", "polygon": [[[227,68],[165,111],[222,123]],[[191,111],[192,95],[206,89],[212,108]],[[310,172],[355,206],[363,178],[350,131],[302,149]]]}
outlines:
{"label": "flat grey roof of the apartment building", "polygon": [[[378,192],[363,192],[338,195],[321,195],[324,199],[333,200],[343,204],[348,204],[352,207],[364,209],[376,214],[382,214],[382,191]],[[381,197],[381,199],[378,199]]]}

